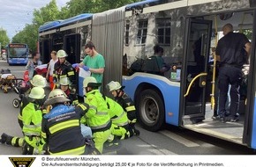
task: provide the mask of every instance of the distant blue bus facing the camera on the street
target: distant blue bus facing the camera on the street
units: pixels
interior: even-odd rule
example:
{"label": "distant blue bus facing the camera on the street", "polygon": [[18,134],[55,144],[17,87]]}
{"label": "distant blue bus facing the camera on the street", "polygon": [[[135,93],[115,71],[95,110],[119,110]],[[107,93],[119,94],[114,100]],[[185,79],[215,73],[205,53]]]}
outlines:
{"label": "distant blue bus facing the camera on the street", "polygon": [[28,61],[28,47],[26,44],[10,43],[6,46],[6,59],[9,65],[25,65]]}

